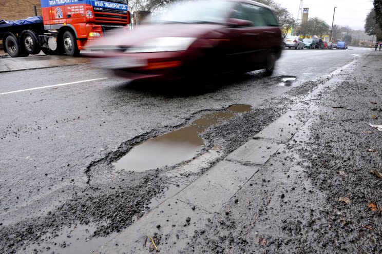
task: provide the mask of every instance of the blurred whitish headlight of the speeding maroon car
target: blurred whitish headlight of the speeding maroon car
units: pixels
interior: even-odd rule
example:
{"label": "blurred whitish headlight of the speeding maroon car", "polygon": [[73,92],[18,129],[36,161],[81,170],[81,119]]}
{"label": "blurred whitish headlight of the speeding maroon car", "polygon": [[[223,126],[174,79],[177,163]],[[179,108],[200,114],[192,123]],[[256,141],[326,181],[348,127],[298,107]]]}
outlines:
{"label": "blurred whitish headlight of the speeding maroon car", "polygon": [[193,37],[158,37],[139,46],[132,46],[125,53],[149,53],[187,50],[195,42]]}

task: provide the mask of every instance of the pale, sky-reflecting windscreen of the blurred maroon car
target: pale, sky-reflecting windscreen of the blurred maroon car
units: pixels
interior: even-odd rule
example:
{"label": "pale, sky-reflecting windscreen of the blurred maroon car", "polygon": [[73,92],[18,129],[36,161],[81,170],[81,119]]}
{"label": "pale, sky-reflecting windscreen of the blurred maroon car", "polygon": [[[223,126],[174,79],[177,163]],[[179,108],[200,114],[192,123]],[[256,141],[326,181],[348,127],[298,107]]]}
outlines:
{"label": "pale, sky-reflecting windscreen of the blurred maroon car", "polygon": [[235,3],[231,1],[180,1],[151,18],[154,23],[225,23]]}

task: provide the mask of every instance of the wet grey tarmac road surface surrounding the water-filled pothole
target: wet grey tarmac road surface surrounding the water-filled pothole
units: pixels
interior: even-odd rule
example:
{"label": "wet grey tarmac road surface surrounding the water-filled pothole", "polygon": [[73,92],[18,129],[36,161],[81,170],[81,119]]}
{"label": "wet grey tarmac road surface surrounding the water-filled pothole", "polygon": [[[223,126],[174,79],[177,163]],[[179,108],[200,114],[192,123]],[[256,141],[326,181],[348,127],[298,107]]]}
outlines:
{"label": "wet grey tarmac road surface surrounding the water-filled pothole", "polygon": [[[142,209],[150,209],[148,201],[162,193],[167,181],[158,177],[167,168],[163,166],[114,172],[111,163],[131,148],[189,126],[205,113],[250,105],[258,121],[245,122],[241,129],[227,127],[236,137],[218,128],[224,121],[201,133],[206,149],[218,145],[227,154],[277,118],[294,96],[308,92],[313,81],[370,51],[285,50],[272,77],[257,71],[217,81],[207,90],[184,89],[184,84],[130,87],[126,80],[87,64],[0,73],[0,242],[10,243],[0,244],[0,252],[27,253],[44,233],[77,222],[97,225],[97,236],[118,232],[141,216]],[[285,76],[296,77],[292,86],[279,85]],[[246,128],[249,124],[252,129]],[[143,197],[148,192],[149,197]],[[116,194],[125,195],[127,204],[110,200]],[[87,210],[81,204],[87,204]],[[127,216],[110,224],[126,206]],[[98,240],[81,251],[91,252],[102,243]],[[60,253],[70,251],[59,245]],[[43,251],[48,252],[51,247],[46,246]]]}

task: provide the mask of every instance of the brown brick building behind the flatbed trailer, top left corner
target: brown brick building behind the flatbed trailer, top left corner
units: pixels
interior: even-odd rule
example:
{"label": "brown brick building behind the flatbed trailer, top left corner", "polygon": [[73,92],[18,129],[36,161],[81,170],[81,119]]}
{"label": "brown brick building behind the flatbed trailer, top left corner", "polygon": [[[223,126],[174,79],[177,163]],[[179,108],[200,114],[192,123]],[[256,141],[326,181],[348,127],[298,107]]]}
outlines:
{"label": "brown brick building behind the flatbed trailer, top left corner", "polygon": [[41,0],[0,0],[0,20],[16,20],[35,16],[34,6],[37,15],[41,16]]}

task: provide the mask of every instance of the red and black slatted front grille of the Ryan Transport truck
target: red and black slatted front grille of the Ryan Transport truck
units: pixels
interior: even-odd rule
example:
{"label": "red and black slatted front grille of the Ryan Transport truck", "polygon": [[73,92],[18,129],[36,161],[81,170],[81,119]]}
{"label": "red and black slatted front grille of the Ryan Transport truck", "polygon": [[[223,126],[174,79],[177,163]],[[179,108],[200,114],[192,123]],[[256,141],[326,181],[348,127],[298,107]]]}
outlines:
{"label": "red and black slatted front grille of the Ryan Transport truck", "polygon": [[129,24],[129,14],[127,11],[94,8],[95,23],[100,24]]}

